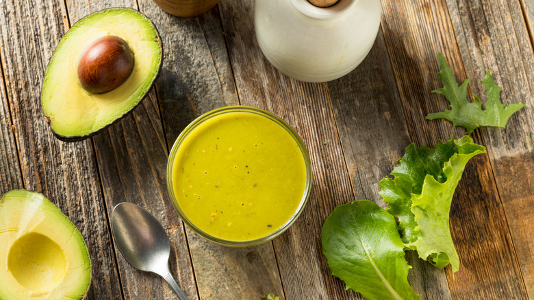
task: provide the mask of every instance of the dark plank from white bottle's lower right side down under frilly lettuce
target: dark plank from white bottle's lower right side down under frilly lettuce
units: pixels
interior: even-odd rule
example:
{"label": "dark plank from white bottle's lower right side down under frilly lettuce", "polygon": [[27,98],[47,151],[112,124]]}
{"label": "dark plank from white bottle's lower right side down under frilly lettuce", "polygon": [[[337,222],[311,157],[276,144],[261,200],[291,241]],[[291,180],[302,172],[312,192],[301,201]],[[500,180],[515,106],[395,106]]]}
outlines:
{"label": "dark plank from white bottle's lower right side down under frilly lettuce", "polygon": [[[357,69],[327,83],[356,199],[382,208],[379,181],[390,176],[410,144],[392,66],[380,31]],[[408,251],[409,283],[422,299],[450,299],[445,272]]]}

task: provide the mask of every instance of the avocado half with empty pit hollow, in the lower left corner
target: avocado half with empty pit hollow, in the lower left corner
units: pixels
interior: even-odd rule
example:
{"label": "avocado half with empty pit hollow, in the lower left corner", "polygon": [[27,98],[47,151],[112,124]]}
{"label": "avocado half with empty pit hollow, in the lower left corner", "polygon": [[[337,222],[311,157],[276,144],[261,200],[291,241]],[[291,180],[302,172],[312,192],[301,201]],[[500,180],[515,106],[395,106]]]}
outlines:
{"label": "avocado half with empty pit hollow, in the lower left corner", "polygon": [[0,299],[82,299],[91,261],[75,225],[43,195],[0,200]]}

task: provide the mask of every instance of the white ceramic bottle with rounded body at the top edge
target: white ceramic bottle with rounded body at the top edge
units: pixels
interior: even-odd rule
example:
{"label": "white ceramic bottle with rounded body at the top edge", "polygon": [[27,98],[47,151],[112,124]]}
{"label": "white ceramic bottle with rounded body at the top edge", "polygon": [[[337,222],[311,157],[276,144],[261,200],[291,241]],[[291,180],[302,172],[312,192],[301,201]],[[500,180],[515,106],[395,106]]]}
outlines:
{"label": "white ceramic bottle with rounded body at the top edge", "polygon": [[379,0],[339,0],[319,8],[308,0],[256,0],[259,47],[285,75],[328,82],[351,72],[370,51],[380,25]]}

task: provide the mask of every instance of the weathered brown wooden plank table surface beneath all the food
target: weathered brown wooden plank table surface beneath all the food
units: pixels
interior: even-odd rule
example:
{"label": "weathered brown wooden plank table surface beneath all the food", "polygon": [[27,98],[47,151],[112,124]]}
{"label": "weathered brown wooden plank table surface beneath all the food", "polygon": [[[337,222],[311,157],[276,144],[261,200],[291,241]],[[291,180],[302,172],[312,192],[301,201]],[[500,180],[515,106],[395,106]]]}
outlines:
{"label": "weathered brown wooden plank table surface beneath all the food", "polygon": [[[374,47],[333,82],[290,79],[264,58],[252,0],[221,0],[197,18],[164,13],[151,0],[0,0],[0,192],[42,192],[83,234],[92,259],[88,299],[177,299],[157,275],[123,258],[110,234],[114,205],[131,201],[164,224],[170,266],[190,299],[361,299],[344,290],[321,254],[320,229],[336,205],[379,197],[410,142],[463,136],[424,116],[448,108],[437,53],[458,81],[485,99],[491,68],[503,103],[527,106],[507,129],[471,135],[487,147],[455,192],[450,230],[460,268],[438,269],[409,252],[409,282],[422,299],[534,299],[533,0],[382,0]],[[122,121],[81,142],[56,139],[40,108],[45,68],[66,30],[103,8],[131,7],[160,31],[164,63],[155,88]],[[312,158],[307,206],[287,232],[263,245],[227,248],[184,227],[166,190],[175,138],[199,114],[253,105],[288,121]]]}

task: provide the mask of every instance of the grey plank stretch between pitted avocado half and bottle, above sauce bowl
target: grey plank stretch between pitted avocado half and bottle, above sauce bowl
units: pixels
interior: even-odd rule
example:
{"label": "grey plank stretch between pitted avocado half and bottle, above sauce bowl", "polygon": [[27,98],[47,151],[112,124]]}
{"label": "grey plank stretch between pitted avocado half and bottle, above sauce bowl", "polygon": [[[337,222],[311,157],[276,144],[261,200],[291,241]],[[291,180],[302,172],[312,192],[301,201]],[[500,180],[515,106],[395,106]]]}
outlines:
{"label": "grey plank stretch between pitted avocado half and bottle, above sauce bowl", "polygon": [[164,13],[151,0],[139,1],[162,38],[164,62],[155,84],[168,148],[191,121],[214,108],[238,104],[216,9],[201,17]]}

